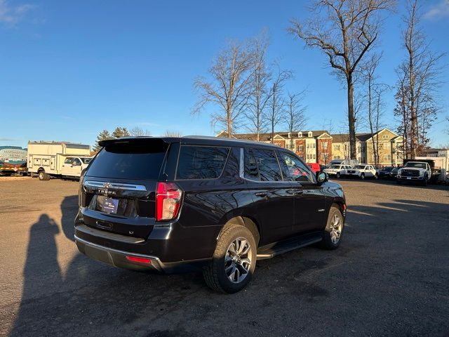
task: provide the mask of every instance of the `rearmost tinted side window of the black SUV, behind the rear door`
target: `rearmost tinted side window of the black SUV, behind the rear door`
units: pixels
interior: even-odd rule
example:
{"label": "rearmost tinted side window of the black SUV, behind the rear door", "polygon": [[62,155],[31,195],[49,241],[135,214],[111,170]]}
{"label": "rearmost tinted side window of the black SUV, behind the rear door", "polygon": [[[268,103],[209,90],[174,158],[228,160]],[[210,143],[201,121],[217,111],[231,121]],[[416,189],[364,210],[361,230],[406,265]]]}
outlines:
{"label": "rearmost tinted side window of the black SUV, behind the rear door", "polygon": [[225,168],[229,147],[182,145],[176,179],[215,179]]}

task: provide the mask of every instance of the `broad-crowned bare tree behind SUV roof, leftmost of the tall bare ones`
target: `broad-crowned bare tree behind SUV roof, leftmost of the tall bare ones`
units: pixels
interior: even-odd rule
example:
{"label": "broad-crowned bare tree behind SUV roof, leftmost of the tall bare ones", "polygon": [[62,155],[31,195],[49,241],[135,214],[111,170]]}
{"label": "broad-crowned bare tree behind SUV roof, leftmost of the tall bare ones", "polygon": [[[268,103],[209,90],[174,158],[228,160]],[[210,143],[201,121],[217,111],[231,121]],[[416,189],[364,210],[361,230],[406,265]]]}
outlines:
{"label": "broad-crowned bare tree behind SUV roof, leftmost of the tall bare ones", "polygon": [[248,108],[252,90],[250,81],[253,56],[248,42],[229,42],[208,70],[211,81],[203,77],[194,81],[199,101],[193,113],[197,114],[205,105],[213,104],[218,111],[211,114],[211,123],[225,128],[229,138],[234,129],[238,128],[242,112]]}

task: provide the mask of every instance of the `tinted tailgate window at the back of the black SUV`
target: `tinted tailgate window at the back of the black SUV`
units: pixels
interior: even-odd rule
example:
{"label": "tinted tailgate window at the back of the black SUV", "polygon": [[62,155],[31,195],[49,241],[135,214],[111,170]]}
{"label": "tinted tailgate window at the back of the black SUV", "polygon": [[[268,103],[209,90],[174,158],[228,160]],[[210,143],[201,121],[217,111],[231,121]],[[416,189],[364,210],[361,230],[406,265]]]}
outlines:
{"label": "tinted tailgate window at the back of the black SUV", "polygon": [[86,174],[102,178],[157,179],[167,147],[131,143],[109,145],[97,154]]}

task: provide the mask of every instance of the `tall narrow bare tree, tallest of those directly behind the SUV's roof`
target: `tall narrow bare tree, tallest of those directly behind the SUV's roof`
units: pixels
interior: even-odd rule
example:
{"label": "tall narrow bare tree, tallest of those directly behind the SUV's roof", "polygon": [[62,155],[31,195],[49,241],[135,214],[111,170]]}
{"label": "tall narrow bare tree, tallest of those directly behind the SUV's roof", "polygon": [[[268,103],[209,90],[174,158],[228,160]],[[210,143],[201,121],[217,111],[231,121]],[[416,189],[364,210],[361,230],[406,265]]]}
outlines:
{"label": "tall narrow bare tree, tallest of those directly behind the SUV's roof", "polygon": [[260,140],[260,133],[268,128],[268,121],[264,118],[269,99],[272,93],[269,90],[269,81],[272,74],[267,69],[267,48],[269,40],[267,33],[263,32],[259,37],[255,37],[251,42],[253,45],[253,66],[250,85],[253,86],[250,100],[248,101],[248,110],[244,113],[246,117],[246,128],[250,133],[255,133],[256,140]]}

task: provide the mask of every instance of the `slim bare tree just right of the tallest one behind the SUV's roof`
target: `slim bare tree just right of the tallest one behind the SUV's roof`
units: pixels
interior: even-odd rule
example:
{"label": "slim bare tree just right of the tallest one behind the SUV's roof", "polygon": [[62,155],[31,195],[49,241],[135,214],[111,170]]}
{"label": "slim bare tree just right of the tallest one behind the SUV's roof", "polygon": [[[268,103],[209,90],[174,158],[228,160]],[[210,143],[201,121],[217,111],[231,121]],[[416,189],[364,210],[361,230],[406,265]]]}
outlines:
{"label": "slim bare tree just right of the tallest one behind the SUV's roof", "polygon": [[269,111],[267,112],[267,119],[269,120],[269,126],[272,133],[272,143],[274,138],[274,128],[282,121],[284,108],[286,106],[286,101],[282,97],[283,86],[285,82],[292,77],[292,72],[290,70],[281,70],[279,65],[277,65],[278,71],[275,75],[271,88],[270,88],[270,99],[269,99]]}

